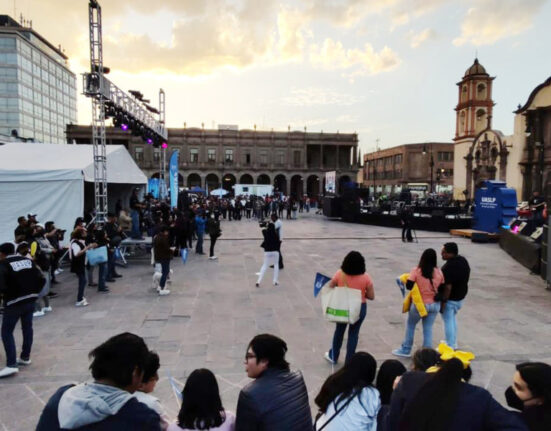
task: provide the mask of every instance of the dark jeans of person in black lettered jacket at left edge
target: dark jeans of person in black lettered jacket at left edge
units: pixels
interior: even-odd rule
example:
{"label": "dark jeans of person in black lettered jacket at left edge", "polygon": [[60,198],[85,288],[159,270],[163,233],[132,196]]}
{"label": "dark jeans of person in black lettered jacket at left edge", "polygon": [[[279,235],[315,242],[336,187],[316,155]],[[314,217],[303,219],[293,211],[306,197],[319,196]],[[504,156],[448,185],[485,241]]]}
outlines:
{"label": "dark jeans of person in black lettered jacket at left edge", "polygon": [[21,359],[28,360],[31,356],[33,345],[33,312],[34,301],[26,304],[15,304],[4,308],[2,317],[2,342],[6,351],[6,366],[17,368],[17,352],[13,331],[17,321],[21,319],[21,331],[23,332],[23,349]]}

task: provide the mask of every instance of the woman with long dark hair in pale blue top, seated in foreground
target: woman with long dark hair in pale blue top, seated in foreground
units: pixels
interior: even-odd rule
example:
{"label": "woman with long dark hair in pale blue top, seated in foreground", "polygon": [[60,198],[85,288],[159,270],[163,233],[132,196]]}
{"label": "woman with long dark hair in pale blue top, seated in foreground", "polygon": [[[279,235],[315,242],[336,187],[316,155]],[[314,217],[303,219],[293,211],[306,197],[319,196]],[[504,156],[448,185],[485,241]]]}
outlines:
{"label": "woman with long dark hair in pale blue top, seated in foreground", "polygon": [[315,398],[319,407],[317,431],[376,430],[381,407],[379,392],[372,385],[377,362],[367,352],[355,353],[329,376]]}

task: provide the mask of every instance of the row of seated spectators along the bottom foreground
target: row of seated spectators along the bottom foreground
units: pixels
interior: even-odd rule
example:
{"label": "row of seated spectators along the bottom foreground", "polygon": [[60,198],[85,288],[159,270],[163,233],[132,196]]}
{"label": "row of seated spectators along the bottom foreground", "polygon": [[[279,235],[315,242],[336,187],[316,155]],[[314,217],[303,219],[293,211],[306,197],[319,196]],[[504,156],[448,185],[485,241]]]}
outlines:
{"label": "row of seated spectators along the bottom foreground", "polygon": [[[444,349],[445,350],[445,349]],[[377,362],[354,353],[322,384],[312,417],[300,371],[286,361],[287,344],[255,336],[245,352],[252,381],[241,389],[235,414],[220,397],[216,376],[194,370],[179,398],[176,418],[154,396],[159,356],[131,333],[116,335],[90,352],[92,380],[60,387],[44,407],[37,431],[55,430],[549,430],[551,366],[521,363],[501,406],[472,385],[470,358],[422,348],[406,370],[397,360]]]}

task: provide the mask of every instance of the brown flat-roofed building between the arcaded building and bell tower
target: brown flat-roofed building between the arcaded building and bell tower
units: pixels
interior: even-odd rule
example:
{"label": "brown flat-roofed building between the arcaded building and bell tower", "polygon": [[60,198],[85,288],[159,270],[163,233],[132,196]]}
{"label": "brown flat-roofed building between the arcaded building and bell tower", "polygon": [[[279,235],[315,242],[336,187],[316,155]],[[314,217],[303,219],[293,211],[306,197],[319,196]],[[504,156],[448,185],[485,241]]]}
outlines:
{"label": "brown flat-roofed building between the arcaded building and bell tower", "polygon": [[364,187],[370,192],[399,193],[408,184],[449,192],[453,184],[453,143],[405,144],[364,154]]}

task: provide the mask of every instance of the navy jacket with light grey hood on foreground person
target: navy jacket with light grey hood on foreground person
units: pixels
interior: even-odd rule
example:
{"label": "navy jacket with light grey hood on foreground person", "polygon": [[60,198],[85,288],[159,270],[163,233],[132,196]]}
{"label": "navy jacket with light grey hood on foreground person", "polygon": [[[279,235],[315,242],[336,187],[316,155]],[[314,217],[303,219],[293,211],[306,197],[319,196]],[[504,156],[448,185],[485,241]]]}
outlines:
{"label": "navy jacket with light grey hood on foreground person", "polygon": [[37,431],[155,430],[159,415],[122,389],[99,383],[64,386],[44,408]]}

